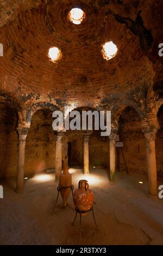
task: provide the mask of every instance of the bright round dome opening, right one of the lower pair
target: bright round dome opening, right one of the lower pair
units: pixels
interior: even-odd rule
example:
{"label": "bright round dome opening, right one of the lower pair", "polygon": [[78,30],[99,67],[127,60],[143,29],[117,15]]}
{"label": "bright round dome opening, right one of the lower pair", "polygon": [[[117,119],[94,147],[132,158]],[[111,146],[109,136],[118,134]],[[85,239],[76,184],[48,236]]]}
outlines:
{"label": "bright round dome opening, right one of the lower pair", "polygon": [[114,43],[112,43],[112,41],[106,42],[102,45],[102,47],[103,58],[106,59],[106,61],[108,61],[111,58],[114,58],[117,55],[117,46]]}

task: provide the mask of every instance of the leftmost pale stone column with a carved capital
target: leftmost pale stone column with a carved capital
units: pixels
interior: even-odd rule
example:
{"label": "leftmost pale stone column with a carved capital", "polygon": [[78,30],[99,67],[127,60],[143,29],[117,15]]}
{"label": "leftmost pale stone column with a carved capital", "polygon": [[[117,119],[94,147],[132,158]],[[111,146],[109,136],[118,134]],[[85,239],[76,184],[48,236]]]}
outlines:
{"label": "leftmost pale stone column with a carved capital", "polygon": [[28,128],[17,128],[18,132],[18,162],[16,192],[22,192],[24,187],[24,160]]}

